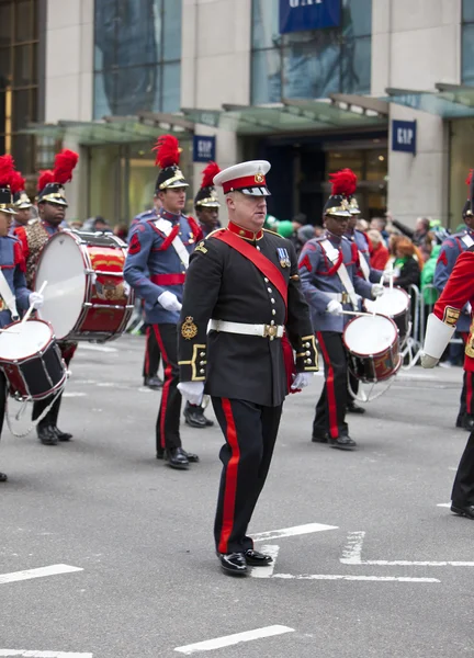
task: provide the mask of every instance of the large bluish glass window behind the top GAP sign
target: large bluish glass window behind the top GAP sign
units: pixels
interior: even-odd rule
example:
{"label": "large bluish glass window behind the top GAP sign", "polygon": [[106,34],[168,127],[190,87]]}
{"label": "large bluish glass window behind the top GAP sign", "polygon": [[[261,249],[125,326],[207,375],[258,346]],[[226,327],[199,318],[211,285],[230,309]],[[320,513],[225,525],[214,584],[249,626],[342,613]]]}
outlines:
{"label": "large bluish glass window behind the top GAP sign", "polygon": [[372,0],[341,0],[341,26],[279,33],[279,0],[252,0],[252,104],[370,93]]}

